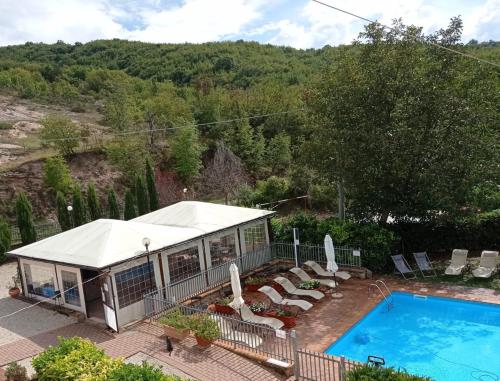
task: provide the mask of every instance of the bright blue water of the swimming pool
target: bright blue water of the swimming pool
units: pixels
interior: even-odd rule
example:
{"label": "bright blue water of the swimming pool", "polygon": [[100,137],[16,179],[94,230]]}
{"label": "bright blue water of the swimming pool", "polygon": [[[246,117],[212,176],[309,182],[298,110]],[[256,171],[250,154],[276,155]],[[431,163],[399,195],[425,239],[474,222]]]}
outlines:
{"label": "bright blue water of the swimming pool", "polygon": [[500,381],[500,306],[394,292],[325,352],[437,381]]}

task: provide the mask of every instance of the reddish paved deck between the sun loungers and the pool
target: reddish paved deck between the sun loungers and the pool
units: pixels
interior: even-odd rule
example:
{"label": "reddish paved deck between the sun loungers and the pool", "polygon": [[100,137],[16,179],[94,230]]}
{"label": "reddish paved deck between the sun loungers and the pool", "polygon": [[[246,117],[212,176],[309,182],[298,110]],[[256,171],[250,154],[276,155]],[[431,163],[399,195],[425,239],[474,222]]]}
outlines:
{"label": "reddish paved deck between the sun loungers and the pool", "polygon": [[500,305],[500,291],[485,288],[429,284],[418,280],[404,281],[393,277],[374,279],[349,279],[342,282],[342,299],[329,295],[306,313],[301,313],[295,327],[300,346],[316,352],[323,352],[350,327],[361,320],[382,300],[368,287],[376,279],[382,279],[391,291],[403,291],[420,295],[441,296],[469,301],[487,302]]}

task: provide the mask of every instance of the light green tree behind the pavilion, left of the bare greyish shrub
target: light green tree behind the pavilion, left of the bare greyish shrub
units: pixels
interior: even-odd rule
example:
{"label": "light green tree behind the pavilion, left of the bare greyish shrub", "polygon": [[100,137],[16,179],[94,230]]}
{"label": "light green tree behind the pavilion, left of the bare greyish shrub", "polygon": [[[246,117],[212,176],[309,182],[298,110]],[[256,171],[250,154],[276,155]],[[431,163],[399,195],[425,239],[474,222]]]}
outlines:
{"label": "light green tree behind the pavilion, left of the bare greyish shrub", "polygon": [[200,173],[202,153],[203,148],[199,141],[198,131],[194,126],[176,130],[171,154],[175,163],[175,172],[184,184],[189,184]]}

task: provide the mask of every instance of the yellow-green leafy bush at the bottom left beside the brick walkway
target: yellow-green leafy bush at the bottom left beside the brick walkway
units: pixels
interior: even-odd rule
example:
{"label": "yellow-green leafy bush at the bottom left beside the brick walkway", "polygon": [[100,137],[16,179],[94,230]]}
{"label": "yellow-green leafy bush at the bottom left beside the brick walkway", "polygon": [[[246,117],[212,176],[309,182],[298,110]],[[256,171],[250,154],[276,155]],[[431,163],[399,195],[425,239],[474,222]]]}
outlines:
{"label": "yellow-green leafy bush at the bottom left beside the brick walkway", "polygon": [[107,375],[122,365],[121,360],[106,356],[90,340],[58,340],[58,346],[49,347],[32,360],[38,381],[106,381]]}

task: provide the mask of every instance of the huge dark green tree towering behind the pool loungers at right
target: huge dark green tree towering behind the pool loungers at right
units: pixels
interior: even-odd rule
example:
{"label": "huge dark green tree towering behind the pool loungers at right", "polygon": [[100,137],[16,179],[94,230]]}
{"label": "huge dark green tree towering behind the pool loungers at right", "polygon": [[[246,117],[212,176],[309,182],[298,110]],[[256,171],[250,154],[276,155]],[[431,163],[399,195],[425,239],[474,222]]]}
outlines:
{"label": "huge dark green tree towering behind the pool loungers at right", "polygon": [[370,24],[308,92],[308,161],[357,217],[453,215],[474,185],[498,180],[497,73],[415,43],[461,50],[461,31],[460,19],[429,37]]}

